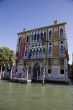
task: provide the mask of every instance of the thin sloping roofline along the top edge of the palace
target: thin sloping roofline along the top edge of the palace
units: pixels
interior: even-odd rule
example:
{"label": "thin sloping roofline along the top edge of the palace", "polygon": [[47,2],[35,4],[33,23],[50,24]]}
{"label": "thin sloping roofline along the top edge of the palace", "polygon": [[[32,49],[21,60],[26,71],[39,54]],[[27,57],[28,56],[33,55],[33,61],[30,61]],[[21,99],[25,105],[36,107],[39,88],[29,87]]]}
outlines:
{"label": "thin sloping roofline along the top edge of the palace", "polygon": [[51,27],[55,27],[55,26],[59,26],[59,25],[66,25],[66,22],[58,23],[58,24],[54,24],[54,25],[50,25],[50,26],[39,27],[39,28],[35,28],[35,29],[30,29],[30,30],[25,30],[25,31],[19,32],[17,34],[19,35],[19,34],[33,31],[33,30],[38,30],[38,29],[43,29],[43,28],[51,28]]}

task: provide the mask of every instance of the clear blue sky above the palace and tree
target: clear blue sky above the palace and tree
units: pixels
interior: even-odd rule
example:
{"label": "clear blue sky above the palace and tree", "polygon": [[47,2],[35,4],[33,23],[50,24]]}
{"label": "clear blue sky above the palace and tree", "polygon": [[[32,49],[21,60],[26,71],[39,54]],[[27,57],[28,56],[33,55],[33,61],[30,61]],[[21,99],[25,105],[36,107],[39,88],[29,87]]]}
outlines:
{"label": "clear blue sky above the palace and tree", "polygon": [[17,33],[52,25],[53,21],[67,22],[67,40],[72,61],[73,0],[0,0],[0,46],[16,50]]}

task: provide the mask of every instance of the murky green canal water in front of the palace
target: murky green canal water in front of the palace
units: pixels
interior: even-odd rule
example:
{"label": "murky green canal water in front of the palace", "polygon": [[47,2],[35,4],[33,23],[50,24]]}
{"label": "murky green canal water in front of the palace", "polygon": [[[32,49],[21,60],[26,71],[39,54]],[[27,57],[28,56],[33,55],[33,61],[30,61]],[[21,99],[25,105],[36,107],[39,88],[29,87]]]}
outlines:
{"label": "murky green canal water in front of the palace", "polygon": [[73,86],[0,80],[0,110],[73,110]]}

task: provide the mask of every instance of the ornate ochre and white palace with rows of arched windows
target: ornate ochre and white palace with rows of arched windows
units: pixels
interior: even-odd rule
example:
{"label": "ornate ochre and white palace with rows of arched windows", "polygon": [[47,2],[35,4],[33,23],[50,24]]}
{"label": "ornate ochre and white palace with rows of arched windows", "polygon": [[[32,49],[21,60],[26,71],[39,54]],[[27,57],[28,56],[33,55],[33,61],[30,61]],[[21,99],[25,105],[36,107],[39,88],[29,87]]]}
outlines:
{"label": "ornate ochre and white palace with rows of arched windows", "polygon": [[18,74],[28,69],[31,80],[42,80],[45,71],[45,80],[68,81],[66,22],[19,32],[16,66]]}

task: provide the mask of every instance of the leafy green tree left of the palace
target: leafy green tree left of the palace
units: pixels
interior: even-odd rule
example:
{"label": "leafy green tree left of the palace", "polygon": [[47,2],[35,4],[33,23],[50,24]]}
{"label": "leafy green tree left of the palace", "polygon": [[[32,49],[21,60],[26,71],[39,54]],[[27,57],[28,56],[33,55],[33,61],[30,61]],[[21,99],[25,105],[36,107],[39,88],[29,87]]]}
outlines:
{"label": "leafy green tree left of the palace", "polygon": [[8,47],[0,47],[0,68],[4,66],[6,68],[12,67],[13,59],[15,58],[15,53]]}

